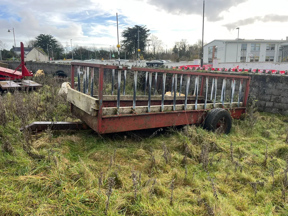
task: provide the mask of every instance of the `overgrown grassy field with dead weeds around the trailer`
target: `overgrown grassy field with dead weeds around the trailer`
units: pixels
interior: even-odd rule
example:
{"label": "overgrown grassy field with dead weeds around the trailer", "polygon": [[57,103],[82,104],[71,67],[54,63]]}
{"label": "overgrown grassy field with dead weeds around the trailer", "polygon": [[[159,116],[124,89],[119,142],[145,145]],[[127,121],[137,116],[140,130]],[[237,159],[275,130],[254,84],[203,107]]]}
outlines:
{"label": "overgrown grassy field with dead weeds around the trailer", "polygon": [[51,80],[0,96],[0,215],[288,215],[287,116],[250,108],[229,135],[19,132],[75,120]]}

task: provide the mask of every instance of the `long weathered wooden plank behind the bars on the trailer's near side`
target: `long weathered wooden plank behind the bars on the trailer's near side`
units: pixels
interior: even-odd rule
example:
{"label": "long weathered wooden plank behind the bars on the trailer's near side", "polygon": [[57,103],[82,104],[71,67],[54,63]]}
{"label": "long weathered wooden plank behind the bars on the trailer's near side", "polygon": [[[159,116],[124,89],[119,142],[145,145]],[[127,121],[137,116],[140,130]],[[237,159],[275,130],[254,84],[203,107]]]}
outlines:
{"label": "long weathered wooden plank behind the bars on the trailer's near side", "polygon": [[[224,108],[229,108],[230,103],[225,103]],[[240,103],[240,106],[242,106],[242,102]],[[221,108],[222,103],[216,103],[215,108]],[[237,107],[237,103],[232,103],[232,108]],[[204,104],[198,104],[197,105],[198,110],[204,109]],[[186,110],[194,110],[195,104],[187,104]],[[206,109],[213,109],[213,103],[206,104]],[[184,105],[176,105],[175,111],[181,111],[184,110]],[[173,111],[173,105],[164,105],[164,112],[166,111]],[[132,107],[120,107],[119,108],[119,114],[132,114],[132,113],[147,113],[148,112],[148,106],[139,106],[135,107],[135,110],[133,111]],[[161,105],[157,106],[150,106],[150,113],[153,112],[161,112]],[[106,107],[102,109],[103,115],[116,115],[117,109],[116,107]]]}

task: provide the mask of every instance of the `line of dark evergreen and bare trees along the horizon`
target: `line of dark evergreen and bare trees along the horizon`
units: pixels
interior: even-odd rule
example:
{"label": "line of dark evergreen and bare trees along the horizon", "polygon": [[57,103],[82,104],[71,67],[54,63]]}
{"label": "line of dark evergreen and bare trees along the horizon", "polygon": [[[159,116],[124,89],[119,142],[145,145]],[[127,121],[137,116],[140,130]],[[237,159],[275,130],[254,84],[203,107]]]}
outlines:
{"label": "line of dark evergreen and bare trees along the horizon", "polygon": [[[120,41],[120,59],[138,59],[138,48],[140,49],[141,60],[172,60],[172,61],[191,61],[201,58],[202,40],[198,39],[195,43],[190,44],[187,39],[175,41],[172,48],[167,45],[156,35],[149,33],[145,25],[127,27],[122,31],[123,38]],[[138,36],[139,35],[139,36]],[[139,37],[139,44],[138,44]],[[204,45],[206,42],[204,42]],[[34,39],[24,42],[25,47],[39,47],[47,54],[49,58],[54,60],[59,59],[73,59],[74,60],[88,60],[88,59],[118,59],[118,48],[113,45],[111,47],[96,47],[93,43],[92,46],[81,46],[77,43],[65,42],[64,46],[60,41],[51,34],[40,34]],[[6,50],[7,44],[0,41],[0,50],[3,50],[3,60],[12,58],[15,53]],[[111,56],[110,56],[111,53]],[[113,57],[114,56],[114,57]]]}

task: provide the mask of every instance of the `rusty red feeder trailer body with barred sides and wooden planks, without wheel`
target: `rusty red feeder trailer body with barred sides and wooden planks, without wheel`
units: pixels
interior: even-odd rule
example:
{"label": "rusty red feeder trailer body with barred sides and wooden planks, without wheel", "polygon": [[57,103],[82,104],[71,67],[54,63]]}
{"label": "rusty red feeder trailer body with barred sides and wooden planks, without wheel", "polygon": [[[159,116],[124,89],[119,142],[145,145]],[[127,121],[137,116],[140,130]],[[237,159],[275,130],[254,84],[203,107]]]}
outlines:
{"label": "rusty red feeder trailer body with barred sides and wooden planks, without wheel", "polygon": [[[112,69],[111,95],[103,95],[104,71]],[[90,73],[89,73],[90,71]],[[118,72],[117,95],[114,95],[114,73]],[[134,74],[134,93],[125,95],[126,75]],[[136,95],[139,73],[145,74],[144,96]],[[88,82],[90,74],[90,82]],[[94,95],[94,74],[97,76],[98,92]],[[138,75],[137,75],[138,74]],[[152,74],[154,80],[152,82]],[[166,75],[171,75],[171,96],[165,96]],[[78,77],[77,90],[74,89],[74,75]],[[83,83],[81,77],[83,75]],[[162,95],[155,96],[152,83],[161,83]],[[162,76],[162,79],[159,77]],[[123,77],[123,78],[122,78]],[[124,79],[121,86],[121,78]],[[190,80],[195,78],[194,92],[189,90]],[[199,81],[201,84],[199,86]],[[231,80],[230,95],[225,97],[226,82]],[[208,85],[208,83],[211,84]],[[222,82],[221,99],[217,102],[217,84]],[[230,81],[229,81],[230,82]],[[238,83],[236,86],[236,82]],[[124,84],[123,84],[124,83]],[[81,86],[83,85],[83,92]],[[159,83],[158,83],[159,84]],[[185,85],[183,85],[185,84]],[[136,68],[71,62],[71,88],[67,100],[71,112],[99,134],[130,130],[160,128],[167,126],[202,123],[209,110],[223,108],[229,110],[232,118],[240,118],[246,112],[250,77],[225,74],[202,73],[183,70]],[[123,88],[122,95],[120,95]],[[146,88],[148,95],[146,95]],[[178,96],[184,92],[185,96]],[[155,88],[154,88],[155,89]],[[90,90],[90,91],[89,91]],[[116,91],[116,90],[115,90]],[[235,102],[235,98],[238,100]],[[219,92],[219,89],[218,89]],[[211,94],[210,94],[211,93]],[[208,94],[210,97],[208,98]],[[241,95],[242,100],[241,100]],[[219,94],[218,94],[219,98]]]}

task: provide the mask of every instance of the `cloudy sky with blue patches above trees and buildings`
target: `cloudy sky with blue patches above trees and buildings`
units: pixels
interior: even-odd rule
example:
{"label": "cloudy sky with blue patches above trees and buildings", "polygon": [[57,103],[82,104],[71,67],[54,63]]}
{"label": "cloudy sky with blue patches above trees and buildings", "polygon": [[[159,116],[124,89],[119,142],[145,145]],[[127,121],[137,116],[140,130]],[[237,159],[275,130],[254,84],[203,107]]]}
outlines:
{"label": "cloudy sky with blue patches above trees and buildings", "polygon": [[[204,41],[237,38],[286,39],[287,0],[206,0]],[[125,27],[146,25],[168,48],[182,38],[193,44],[202,37],[203,0],[1,0],[0,40],[9,48],[39,34],[52,34],[63,44],[97,47],[117,44]]]}

